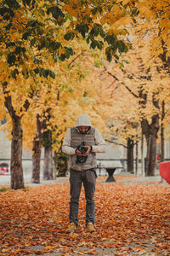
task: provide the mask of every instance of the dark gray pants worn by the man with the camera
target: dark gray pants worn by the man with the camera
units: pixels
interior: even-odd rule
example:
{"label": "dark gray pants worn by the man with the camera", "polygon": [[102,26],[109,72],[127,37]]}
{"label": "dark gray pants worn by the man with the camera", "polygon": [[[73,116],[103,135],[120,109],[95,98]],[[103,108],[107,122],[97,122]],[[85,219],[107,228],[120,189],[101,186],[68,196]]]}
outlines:
{"label": "dark gray pants worn by the man with the camera", "polygon": [[70,186],[71,186],[71,201],[70,201],[70,223],[74,222],[78,225],[78,208],[79,197],[81,194],[82,183],[86,196],[86,224],[95,221],[95,204],[94,191],[96,183],[96,172],[94,169],[85,170],[82,172],[71,169]]}

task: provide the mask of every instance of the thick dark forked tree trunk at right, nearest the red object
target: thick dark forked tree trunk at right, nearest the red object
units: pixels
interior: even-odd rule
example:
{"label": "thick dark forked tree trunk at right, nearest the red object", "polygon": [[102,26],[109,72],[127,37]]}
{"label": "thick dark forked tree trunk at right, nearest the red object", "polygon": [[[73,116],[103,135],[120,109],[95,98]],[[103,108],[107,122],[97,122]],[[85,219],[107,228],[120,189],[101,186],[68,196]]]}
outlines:
{"label": "thick dark forked tree trunk at right, nearest the red object", "polygon": [[145,164],[145,176],[154,176],[156,168],[156,138],[159,130],[158,114],[152,116],[151,124],[149,125],[146,119],[142,120],[142,131],[146,138],[147,153]]}

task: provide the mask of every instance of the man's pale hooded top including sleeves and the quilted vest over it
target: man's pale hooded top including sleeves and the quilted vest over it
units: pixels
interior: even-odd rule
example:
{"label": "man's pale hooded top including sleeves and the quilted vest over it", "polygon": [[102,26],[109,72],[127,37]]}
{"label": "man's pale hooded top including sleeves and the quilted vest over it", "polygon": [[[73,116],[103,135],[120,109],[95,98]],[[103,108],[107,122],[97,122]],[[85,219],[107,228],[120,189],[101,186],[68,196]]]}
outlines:
{"label": "man's pale hooded top including sleeves and the quilted vest over it", "polygon": [[[78,126],[89,126],[90,129],[87,133],[82,134],[78,130]],[[75,153],[77,146],[82,142],[86,145],[92,146],[92,151],[88,154],[88,158],[85,163],[77,163],[77,154]],[[70,167],[77,171],[88,170],[96,168],[97,160],[96,153],[104,153],[106,143],[99,130],[92,127],[88,114],[81,114],[78,116],[77,124],[74,127],[68,129],[65,134],[62,151],[65,154],[70,154]]]}

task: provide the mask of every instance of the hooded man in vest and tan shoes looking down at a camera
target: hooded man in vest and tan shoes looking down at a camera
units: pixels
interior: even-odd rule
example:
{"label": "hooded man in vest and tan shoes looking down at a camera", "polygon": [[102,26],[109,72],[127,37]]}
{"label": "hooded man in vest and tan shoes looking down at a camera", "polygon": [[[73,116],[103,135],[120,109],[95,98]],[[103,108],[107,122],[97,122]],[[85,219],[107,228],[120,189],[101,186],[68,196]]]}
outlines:
{"label": "hooded man in vest and tan shoes looking down at a camera", "polygon": [[65,134],[62,151],[70,154],[70,225],[68,233],[77,230],[79,197],[82,183],[86,196],[86,225],[89,232],[94,231],[95,206],[94,191],[97,167],[96,153],[105,152],[105,141],[99,130],[92,127],[88,114],[78,116],[77,124]]}

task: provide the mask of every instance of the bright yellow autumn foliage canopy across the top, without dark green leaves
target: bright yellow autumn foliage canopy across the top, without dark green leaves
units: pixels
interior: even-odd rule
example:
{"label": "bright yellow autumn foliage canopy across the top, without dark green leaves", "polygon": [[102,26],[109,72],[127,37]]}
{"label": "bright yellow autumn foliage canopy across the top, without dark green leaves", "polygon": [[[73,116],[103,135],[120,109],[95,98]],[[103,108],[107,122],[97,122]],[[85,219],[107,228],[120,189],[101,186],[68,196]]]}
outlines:
{"label": "bright yellow autumn foliage canopy across the top, without dark green leaves", "polygon": [[[52,17],[52,15],[40,15],[44,1],[37,2],[37,9],[35,10],[36,19],[41,22]],[[138,93],[139,85],[144,84],[144,91],[152,96],[156,93],[156,90],[160,90],[160,99],[167,101],[169,96],[169,82],[165,79],[166,74],[163,74],[164,79],[160,79],[161,74],[156,72],[152,57],[156,57],[163,53],[163,47],[167,47],[166,58],[170,56],[169,53],[169,6],[167,1],[151,1],[151,0],[122,0],[122,1],[101,1],[100,5],[101,15],[92,14],[92,1],[82,3],[79,0],[70,0],[65,3],[61,3],[62,11],[67,14],[72,21],[68,20],[64,26],[54,27],[54,23],[49,21],[48,26],[44,27],[44,32],[50,33],[50,30],[54,28],[54,33],[51,35],[51,39],[56,39],[54,34],[57,35],[57,40],[62,42],[63,46],[72,46],[76,52],[77,59],[72,56],[65,62],[54,62],[51,55],[48,54],[48,50],[45,47],[39,51],[36,47],[30,47],[30,44],[26,43],[21,38],[21,32],[25,31],[28,20],[31,20],[31,10],[27,9],[28,14],[23,15],[23,10],[14,11],[14,27],[12,32],[8,35],[10,42],[23,41],[23,46],[28,49],[27,59],[25,63],[20,65],[19,72],[23,75],[17,75],[14,79],[11,74],[14,73],[15,67],[8,67],[6,61],[7,49],[5,44],[0,45],[0,51],[3,55],[0,60],[0,82],[1,84],[6,81],[8,86],[5,90],[6,96],[12,96],[12,103],[15,113],[22,117],[22,126],[24,127],[23,138],[24,147],[31,148],[32,141],[36,133],[36,119],[37,114],[41,116],[41,119],[48,118],[48,114],[51,114],[50,122],[48,123],[48,129],[54,128],[53,137],[57,136],[59,143],[65,135],[65,131],[71,125],[74,125],[77,116],[80,113],[88,113],[92,119],[93,124],[99,128],[100,131],[109,133],[106,124],[108,120],[113,120],[113,131],[119,129],[123,131],[123,136],[136,135],[136,128],[128,131],[125,129],[125,124],[133,122],[139,125],[139,119],[142,116],[148,116],[150,119],[151,114],[156,112],[156,109],[152,108],[151,103],[146,106],[145,109],[140,109],[137,99],[134,100],[130,92],[126,90],[125,84],[133,90],[134,93]],[[129,15],[126,13],[126,9],[120,7],[117,3],[122,5],[130,4]],[[51,6],[54,5],[54,1]],[[131,9],[137,7],[139,9],[138,24],[133,23],[131,16]],[[109,12],[108,9],[112,8]],[[65,32],[75,32],[75,26],[80,24],[80,20],[87,15],[93,18],[93,22],[100,22],[100,24],[108,27],[110,34],[114,33],[117,37],[126,35],[125,28],[133,26],[133,49],[127,55],[127,60],[131,63],[126,65],[124,63],[124,70],[130,73],[133,79],[129,79],[125,73],[117,68],[116,63],[109,64],[105,61],[103,52],[97,52],[93,50],[88,52],[87,44],[82,42],[81,38],[72,40],[71,43],[67,42],[64,38]],[[73,17],[71,17],[73,16]],[[145,17],[145,18],[144,18]],[[62,20],[58,18],[58,21]],[[1,20],[0,28],[3,30],[5,21]],[[88,19],[86,24],[89,28],[93,24],[89,24]],[[130,30],[129,30],[130,32]],[[2,32],[1,32],[2,33]],[[77,34],[78,35],[78,34]],[[37,35],[38,36],[38,35]],[[139,38],[137,38],[139,37]],[[149,38],[149,39],[147,39]],[[128,38],[127,38],[128,39]],[[162,40],[165,44],[162,46]],[[139,46],[137,45],[139,44]],[[14,50],[14,48],[11,48]],[[142,50],[141,50],[142,49]],[[65,53],[64,47],[59,47],[58,56]],[[43,64],[36,64],[34,56],[41,55]],[[96,57],[98,55],[98,57]],[[94,62],[98,62],[98,67],[94,67]],[[100,61],[100,62],[99,62]],[[103,63],[107,70],[113,71],[115,76],[119,78],[119,82],[116,79],[111,78],[108,73],[105,72],[105,68],[102,68]],[[17,64],[19,63],[19,60]],[[142,63],[142,68],[140,67]],[[156,65],[157,62],[156,62]],[[96,64],[97,66],[97,64]],[[30,70],[34,70],[37,67],[44,69],[50,69],[56,73],[55,79],[45,79],[43,76],[30,76],[27,78],[27,73]],[[157,66],[160,67],[160,66]],[[153,81],[146,81],[142,73],[145,73],[147,69],[150,69],[150,76]],[[139,79],[141,76],[141,79]],[[83,79],[82,79],[83,78]],[[162,84],[159,81],[162,80]],[[167,84],[166,84],[167,83]],[[123,85],[124,84],[124,85]],[[143,86],[143,85],[142,85]],[[162,89],[163,88],[163,89]],[[168,88],[168,89],[167,89]],[[6,113],[4,108],[4,95],[3,88],[0,86],[0,119],[3,119],[3,114]],[[29,102],[29,110],[26,111],[24,105],[26,101]],[[127,104],[130,102],[131,104]],[[50,109],[50,111],[48,111]],[[140,111],[140,112],[139,112]],[[167,110],[168,112],[169,110]],[[9,119],[9,118],[8,118]],[[29,120],[29,122],[28,122]],[[7,126],[6,126],[7,127]],[[11,131],[12,123],[8,121],[8,131]],[[57,127],[57,128],[56,128]],[[124,129],[124,130],[123,130]],[[59,148],[59,144],[55,145]]]}

